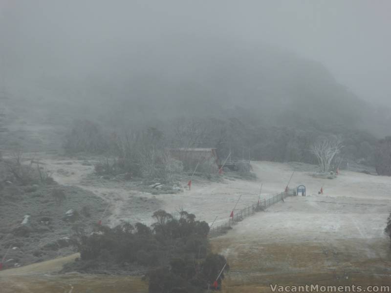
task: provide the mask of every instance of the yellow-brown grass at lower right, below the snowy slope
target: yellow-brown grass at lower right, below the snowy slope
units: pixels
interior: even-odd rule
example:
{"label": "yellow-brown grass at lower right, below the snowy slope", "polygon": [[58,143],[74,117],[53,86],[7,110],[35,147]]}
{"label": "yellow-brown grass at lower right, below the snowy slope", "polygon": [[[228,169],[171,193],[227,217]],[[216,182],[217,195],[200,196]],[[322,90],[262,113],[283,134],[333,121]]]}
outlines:
{"label": "yellow-brown grass at lower right, below the snowy slope", "polygon": [[[234,256],[228,257],[231,272],[226,273],[224,293],[271,292],[270,284],[390,285],[390,257],[380,253],[368,257],[365,251],[354,250],[359,239],[328,246],[324,242],[240,245],[238,239],[232,241],[212,241],[214,251],[235,247]],[[368,244],[373,251],[384,251],[384,245]]]}

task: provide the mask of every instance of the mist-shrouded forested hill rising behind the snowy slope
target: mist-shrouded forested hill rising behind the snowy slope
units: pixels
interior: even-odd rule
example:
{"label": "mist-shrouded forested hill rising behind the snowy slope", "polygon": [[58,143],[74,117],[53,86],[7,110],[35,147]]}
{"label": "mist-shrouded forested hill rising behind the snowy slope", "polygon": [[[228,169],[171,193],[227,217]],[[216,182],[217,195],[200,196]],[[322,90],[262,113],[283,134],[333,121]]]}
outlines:
{"label": "mist-shrouded forested hill rising behind the snowy slope", "polygon": [[175,127],[199,127],[203,139],[192,146],[231,147],[234,156],[257,160],[311,163],[309,145],[332,134],[342,136],[347,158],[371,165],[375,136],[387,134],[387,110],[360,100],[322,64],[289,52],[196,38],[127,49],[115,52],[121,59],[100,51],[102,70],[14,78],[3,81],[3,93],[40,123],[153,126],[175,146],[185,146]]}

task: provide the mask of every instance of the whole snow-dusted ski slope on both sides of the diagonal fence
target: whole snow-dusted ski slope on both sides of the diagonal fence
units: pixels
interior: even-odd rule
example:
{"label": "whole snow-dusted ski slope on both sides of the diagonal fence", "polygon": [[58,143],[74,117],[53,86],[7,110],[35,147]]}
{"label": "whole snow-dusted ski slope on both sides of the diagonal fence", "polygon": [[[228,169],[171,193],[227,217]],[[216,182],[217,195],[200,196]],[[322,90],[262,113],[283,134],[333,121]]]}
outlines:
{"label": "whole snow-dusted ski slope on both sides of the diagonal fence", "polygon": [[[335,179],[313,176],[316,167],[300,163],[252,162],[258,179],[222,182],[193,180],[192,190],[152,195],[124,182],[87,180],[93,166],[82,160],[37,155],[60,184],[92,191],[109,203],[105,221],[152,223],[152,212],[185,209],[211,223],[227,221],[238,209],[290,188],[306,186],[307,196],[289,197],[245,218],[227,234],[213,238],[215,251],[228,258],[227,292],[261,292],[268,282],[303,284],[322,281],[383,284],[391,279],[390,240],[384,233],[391,211],[391,178],[342,171]],[[324,195],[318,191],[323,187]],[[245,286],[243,287],[243,284]],[[339,283],[338,283],[339,284]],[[236,289],[234,289],[236,288]],[[263,289],[262,289],[263,290]]]}

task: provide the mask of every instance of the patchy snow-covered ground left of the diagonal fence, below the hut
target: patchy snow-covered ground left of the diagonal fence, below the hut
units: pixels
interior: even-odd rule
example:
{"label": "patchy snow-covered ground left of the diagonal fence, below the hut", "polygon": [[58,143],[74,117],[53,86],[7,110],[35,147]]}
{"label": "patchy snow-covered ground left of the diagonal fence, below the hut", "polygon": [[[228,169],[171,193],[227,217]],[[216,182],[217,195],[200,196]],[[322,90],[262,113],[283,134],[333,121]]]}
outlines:
{"label": "patchy snow-covered ground left of the diagonal fence, below the hut", "polygon": [[[42,166],[59,184],[85,188],[105,199],[109,204],[109,215],[105,221],[110,226],[117,225],[121,221],[152,224],[151,216],[156,209],[165,209],[172,213],[184,209],[194,213],[197,219],[205,220],[210,224],[217,216],[215,225],[218,225],[228,220],[240,195],[237,209],[255,204],[258,201],[261,187],[260,180],[240,180],[222,175],[225,178],[222,182],[194,179],[191,190],[188,190],[186,184],[189,178],[185,176],[182,182],[183,192],[152,195],[137,191],[134,182],[88,180],[88,175],[93,172],[94,167],[83,165],[83,160],[44,154],[35,154],[34,158],[44,164]],[[254,163],[253,165],[255,171],[261,173],[259,166],[262,167],[262,164]],[[291,171],[288,170],[281,176],[281,183],[266,184],[265,182],[261,199],[267,199],[283,191],[284,184],[286,185],[290,175]],[[285,183],[282,183],[283,181]]]}

